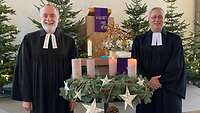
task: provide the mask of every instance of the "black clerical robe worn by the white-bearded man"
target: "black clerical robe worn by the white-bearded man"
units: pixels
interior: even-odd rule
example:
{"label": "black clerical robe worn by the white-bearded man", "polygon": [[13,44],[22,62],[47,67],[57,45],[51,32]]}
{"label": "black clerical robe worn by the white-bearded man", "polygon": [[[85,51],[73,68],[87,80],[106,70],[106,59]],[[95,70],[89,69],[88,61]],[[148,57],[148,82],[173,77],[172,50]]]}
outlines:
{"label": "black clerical robe worn by the white-bearded man", "polygon": [[71,113],[69,102],[59,96],[59,88],[71,75],[71,59],[76,56],[74,40],[56,30],[57,48],[43,48],[46,32],[27,34],[19,48],[12,98],[33,103],[31,113]]}

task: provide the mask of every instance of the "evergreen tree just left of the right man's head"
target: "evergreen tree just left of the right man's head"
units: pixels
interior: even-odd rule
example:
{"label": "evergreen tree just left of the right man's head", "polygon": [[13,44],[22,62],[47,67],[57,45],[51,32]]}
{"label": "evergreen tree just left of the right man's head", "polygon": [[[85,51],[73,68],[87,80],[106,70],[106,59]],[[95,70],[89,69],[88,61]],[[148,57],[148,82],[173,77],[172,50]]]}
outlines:
{"label": "evergreen tree just left of the right man's head", "polygon": [[126,3],[126,7],[125,12],[128,15],[128,19],[122,22],[122,27],[131,29],[130,36],[135,38],[135,36],[144,33],[149,28],[145,16],[147,5],[146,3],[142,4],[142,0],[131,0],[130,4]]}

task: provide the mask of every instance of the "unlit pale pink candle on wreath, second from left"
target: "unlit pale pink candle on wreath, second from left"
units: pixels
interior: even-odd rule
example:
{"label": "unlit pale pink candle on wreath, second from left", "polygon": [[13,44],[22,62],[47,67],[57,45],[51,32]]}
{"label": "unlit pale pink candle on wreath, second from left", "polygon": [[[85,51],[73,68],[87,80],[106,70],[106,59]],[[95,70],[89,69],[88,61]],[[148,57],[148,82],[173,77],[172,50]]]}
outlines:
{"label": "unlit pale pink candle on wreath, second from left", "polygon": [[95,60],[94,59],[87,59],[87,75],[90,78],[95,77]]}

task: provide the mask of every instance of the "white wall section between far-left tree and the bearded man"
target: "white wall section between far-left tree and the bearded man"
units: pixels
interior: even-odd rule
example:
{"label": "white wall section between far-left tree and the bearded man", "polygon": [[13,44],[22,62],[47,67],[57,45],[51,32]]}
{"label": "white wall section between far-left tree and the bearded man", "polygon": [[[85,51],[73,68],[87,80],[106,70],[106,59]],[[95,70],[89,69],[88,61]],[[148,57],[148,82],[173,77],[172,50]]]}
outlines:
{"label": "white wall section between far-left tree and the bearded man", "polygon": [[12,16],[12,23],[15,24],[20,33],[17,35],[17,43],[21,42],[23,36],[31,31],[36,30],[34,24],[28,19],[36,18],[39,20],[39,12],[33,6],[39,5],[39,0],[5,0],[6,3],[16,11],[16,15]]}

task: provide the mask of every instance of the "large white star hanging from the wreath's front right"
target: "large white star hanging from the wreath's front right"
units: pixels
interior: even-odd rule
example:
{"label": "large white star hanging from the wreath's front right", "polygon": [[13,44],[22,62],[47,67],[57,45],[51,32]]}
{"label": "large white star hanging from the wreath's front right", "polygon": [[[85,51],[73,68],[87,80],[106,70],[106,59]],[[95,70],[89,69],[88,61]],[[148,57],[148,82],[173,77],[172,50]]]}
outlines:
{"label": "large white star hanging from the wreath's front right", "polygon": [[127,108],[127,104],[133,109],[132,101],[136,97],[136,95],[130,95],[128,87],[126,87],[126,93],[124,95],[119,95],[119,96],[125,101],[125,106],[124,106],[125,110]]}

